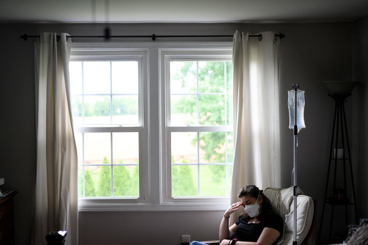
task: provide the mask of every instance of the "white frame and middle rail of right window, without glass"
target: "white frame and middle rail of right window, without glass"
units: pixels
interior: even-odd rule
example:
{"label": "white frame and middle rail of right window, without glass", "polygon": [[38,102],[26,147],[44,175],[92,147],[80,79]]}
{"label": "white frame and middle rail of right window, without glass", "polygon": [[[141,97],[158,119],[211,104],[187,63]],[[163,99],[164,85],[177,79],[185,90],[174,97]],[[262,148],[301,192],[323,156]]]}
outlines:
{"label": "white frame and middle rail of right window, without glass", "polygon": [[[170,125],[170,61],[232,60],[232,48],[160,49],[160,152],[161,199],[163,205],[186,206],[191,210],[226,209],[230,202],[225,197],[172,197],[171,196],[171,132],[233,131],[233,126],[171,126]],[[167,100],[168,98],[168,100]],[[227,166],[227,165],[226,165]],[[227,168],[226,168],[227,173]],[[207,207],[207,208],[206,208]]]}

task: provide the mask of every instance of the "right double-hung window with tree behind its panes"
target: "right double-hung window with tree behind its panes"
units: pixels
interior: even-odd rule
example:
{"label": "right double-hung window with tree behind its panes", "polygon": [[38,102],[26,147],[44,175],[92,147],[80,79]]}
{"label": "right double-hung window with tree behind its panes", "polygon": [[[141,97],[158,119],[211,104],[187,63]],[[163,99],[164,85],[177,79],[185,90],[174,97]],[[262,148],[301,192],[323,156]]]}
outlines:
{"label": "right double-hung window with tree behind its panes", "polygon": [[228,205],[233,169],[231,50],[162,50],[160,58],[162,202],[199,209]]}

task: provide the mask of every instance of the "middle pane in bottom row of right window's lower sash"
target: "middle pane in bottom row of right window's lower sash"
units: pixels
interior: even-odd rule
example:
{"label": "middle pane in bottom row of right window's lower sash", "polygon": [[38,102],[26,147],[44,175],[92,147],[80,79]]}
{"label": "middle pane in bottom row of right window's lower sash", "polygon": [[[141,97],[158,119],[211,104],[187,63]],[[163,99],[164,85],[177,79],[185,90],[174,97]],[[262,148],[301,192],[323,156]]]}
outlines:
{"label": "middle pane in bottom row of right window's lower sash", "polygon": [[224,196],[225,165],[201,165],[199,166],[199,195],[200,196]]}

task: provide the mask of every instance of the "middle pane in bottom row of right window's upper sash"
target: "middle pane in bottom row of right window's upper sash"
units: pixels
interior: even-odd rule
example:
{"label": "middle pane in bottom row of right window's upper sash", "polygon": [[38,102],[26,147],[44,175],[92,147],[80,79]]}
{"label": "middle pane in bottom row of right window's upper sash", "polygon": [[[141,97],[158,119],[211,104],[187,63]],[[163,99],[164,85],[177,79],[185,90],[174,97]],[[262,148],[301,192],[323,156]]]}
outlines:
{"label": "middle pane in bottom row of right window's upper sash", "polygon": [[199,125],[225,125],[225,96],[199,96]]}

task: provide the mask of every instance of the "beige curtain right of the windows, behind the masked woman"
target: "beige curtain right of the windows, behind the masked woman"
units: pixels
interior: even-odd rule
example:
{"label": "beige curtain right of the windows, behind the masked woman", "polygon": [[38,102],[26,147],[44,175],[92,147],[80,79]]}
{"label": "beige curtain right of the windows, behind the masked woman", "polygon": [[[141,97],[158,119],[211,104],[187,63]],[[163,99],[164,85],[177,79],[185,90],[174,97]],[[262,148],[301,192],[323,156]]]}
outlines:
{"label": "beige curtain right of the windows, behind the masked woman", "polygon": [[[241,187],[280,187],[279,46],[275,32],[236,31],[233,39],[234,169],[230,202]],[[230,217],[232,225],[243,210]]]}

